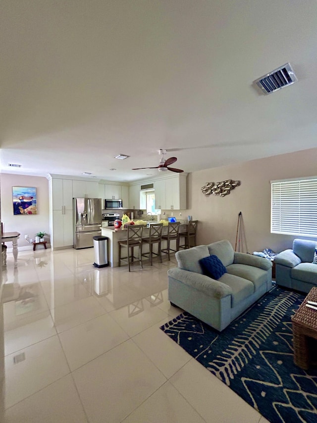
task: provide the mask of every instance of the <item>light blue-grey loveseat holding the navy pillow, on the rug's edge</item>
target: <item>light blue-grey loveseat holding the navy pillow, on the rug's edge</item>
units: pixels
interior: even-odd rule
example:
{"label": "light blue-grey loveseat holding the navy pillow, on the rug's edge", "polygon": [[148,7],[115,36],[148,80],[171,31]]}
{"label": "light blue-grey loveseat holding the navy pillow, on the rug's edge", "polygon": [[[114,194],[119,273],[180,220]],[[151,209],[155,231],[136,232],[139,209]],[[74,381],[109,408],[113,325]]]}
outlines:
{"label": "light blue-grey loveseat holding the navy pillow, on the rug's edge", "polygon": [[[212,254],[227,270],[218,280],[205,276],[199,263]],[[178,267],[167,272],[169,301],[218,331],[272,287],[272,263],[234,252],[227,240],[178,251],[175,257]]]}

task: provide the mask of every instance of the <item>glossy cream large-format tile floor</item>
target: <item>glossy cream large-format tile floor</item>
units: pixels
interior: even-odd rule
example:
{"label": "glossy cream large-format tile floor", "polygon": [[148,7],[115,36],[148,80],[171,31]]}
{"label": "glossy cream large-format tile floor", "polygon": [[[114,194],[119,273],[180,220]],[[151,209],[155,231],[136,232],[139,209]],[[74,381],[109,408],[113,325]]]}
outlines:
{"label": "glossy cream large-format tile floor", "polygon": [[14,270],[8,253],[0,422],[267,422],[159,329],[181,312],[175,258],[130,273],[93,261],[92,248],[20,251]]}

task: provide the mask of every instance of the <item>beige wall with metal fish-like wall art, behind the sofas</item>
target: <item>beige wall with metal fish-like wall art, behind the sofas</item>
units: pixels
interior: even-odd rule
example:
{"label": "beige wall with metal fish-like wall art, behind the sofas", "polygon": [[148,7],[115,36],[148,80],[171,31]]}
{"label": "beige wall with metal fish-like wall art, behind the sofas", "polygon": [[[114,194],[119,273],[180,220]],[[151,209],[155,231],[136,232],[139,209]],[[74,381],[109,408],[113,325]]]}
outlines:
{"label": "beige wall with metal fish-like wall art, behind the sofas", "polygon": [[[317,148],[314,148],[188,175],[188,210],[182,214],[199,220],[197,243],[227,239],[235,247],[240,211],[247,245],[246,248],[245,243],[240,242],[243,252],[253,253],[267,247],[280,252],[291,248],[295,238],[317,241],[316,238],[270,233],[270,181],[317,176],[316,163]],[[201,191],[206,182],[228,179],[241,181],[241,185],[225,197],[205,197]]]}

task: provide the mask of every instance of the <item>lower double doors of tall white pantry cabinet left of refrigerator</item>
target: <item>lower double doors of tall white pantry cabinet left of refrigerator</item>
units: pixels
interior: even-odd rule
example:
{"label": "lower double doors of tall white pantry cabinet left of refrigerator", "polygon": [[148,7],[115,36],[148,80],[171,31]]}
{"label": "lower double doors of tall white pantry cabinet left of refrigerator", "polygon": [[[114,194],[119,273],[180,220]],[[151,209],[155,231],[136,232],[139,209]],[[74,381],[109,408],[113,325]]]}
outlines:
{"label": "lower double doors of tall white pantry cabinet left of refrigerator", "polygon": [[53,228],[51,229],[53,248],[73,245],[73,211],[53,210]]}

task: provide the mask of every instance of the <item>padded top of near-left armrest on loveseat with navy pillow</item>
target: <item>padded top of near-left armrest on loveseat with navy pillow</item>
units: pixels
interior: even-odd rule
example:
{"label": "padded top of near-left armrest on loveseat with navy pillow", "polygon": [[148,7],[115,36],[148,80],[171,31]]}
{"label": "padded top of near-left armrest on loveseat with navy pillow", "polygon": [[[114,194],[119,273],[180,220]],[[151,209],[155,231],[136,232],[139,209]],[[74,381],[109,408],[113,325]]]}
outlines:
{"label": "padded top of near-left armrest on loveseat with navy pillow", "polygon": [[188,270],[174,267],[167,271],[167,275],[216,299],[232,294],[232,290],[228,285],[200,273],[189,272]]}

